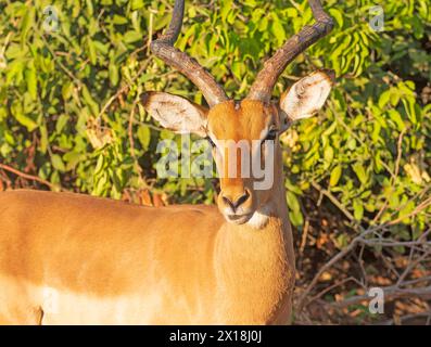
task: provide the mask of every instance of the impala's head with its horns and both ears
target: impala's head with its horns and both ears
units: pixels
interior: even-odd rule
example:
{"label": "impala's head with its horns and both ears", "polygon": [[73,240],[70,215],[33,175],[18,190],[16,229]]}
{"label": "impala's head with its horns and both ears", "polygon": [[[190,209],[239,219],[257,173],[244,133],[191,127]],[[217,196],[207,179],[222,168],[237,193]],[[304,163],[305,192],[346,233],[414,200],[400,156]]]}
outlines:
{"label": "impala's head with its horns and both ears", "polygon": [[[265,63],[242,101],[229,100],[198,62],[174,48],[181,28],[183,0],[176,0],[168,31],[151,44],[155,55],[200,88],[210,107],[163,92],[145,93],[143,105],[165,128],[192,132],[210,141],[220,176],[218,207],[230,222],[241,224],[256,211],[266,210],[272,188],[277,189],[274,182],[280,182],[282,172],[278,137],[293,121],[313,116],[330,92],[333,73],[321,69],[293,83],[279,101],[271,101],[274,86],[286,66],[332,28],[332,21],[319,1],[309,0],[309,3],[316,23],[289,39]],[[269,178],[252,168],[256,160]]]}

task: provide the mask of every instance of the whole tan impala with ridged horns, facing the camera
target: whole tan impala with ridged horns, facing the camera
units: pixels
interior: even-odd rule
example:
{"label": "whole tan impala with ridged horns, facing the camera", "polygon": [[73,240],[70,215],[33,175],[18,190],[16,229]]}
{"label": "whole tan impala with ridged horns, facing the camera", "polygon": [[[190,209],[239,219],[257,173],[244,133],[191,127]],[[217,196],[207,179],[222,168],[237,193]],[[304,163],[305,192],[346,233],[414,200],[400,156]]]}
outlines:
{"label": "whole tan impala with ridged horns, facing the camera", "polygon": [[[315,23],[264,64],[246,99],[229,100],[215,79],[174,48],[185,3],[152,52],[186,75],[208,108],[148,92],[164,127],[207,138],[220,170],[223,140],[274,141],[274,182],[220,175],[215,206],[143,207],[71,193],[0,193],[0,322],[3,324],[284,324],[295,282],[279,134],[325,103],[330,70],[271,92],[288,63],[327,35],[331,18],[309,0]],[[250,153],[254,156],[254,153]],[[262,158],[265,164],[265,155]],[[231,163],[230,163],[231,164]],[[242,159],[233,163],[241,168]]]}

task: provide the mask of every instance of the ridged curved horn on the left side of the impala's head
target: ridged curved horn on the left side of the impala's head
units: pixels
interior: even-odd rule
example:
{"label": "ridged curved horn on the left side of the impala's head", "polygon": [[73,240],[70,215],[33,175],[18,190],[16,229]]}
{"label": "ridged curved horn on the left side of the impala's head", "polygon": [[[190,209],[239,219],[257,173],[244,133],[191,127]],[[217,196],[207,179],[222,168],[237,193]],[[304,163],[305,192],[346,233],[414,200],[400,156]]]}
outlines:
{"label": "ridged curved horn on the left side of the impala's head", "polygon": [[183,14],[185,0],[176,0],[169,28],[151,43],[151,51],[189,78],[202,91],[208,105],[214,106],[229,100],[223,88],[195,60],[174,47],[181,30]]}

